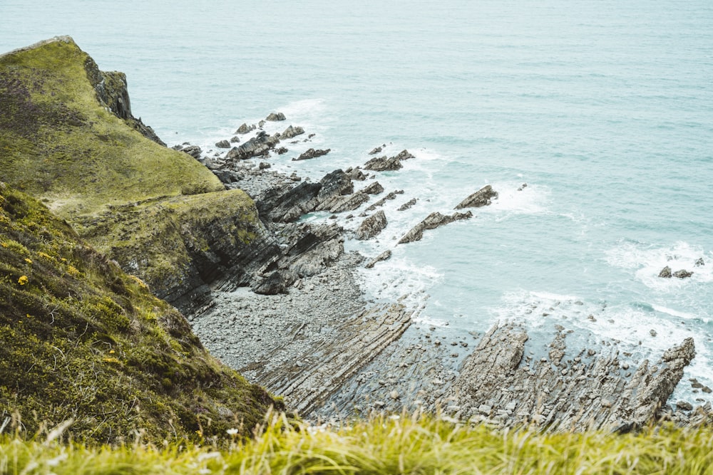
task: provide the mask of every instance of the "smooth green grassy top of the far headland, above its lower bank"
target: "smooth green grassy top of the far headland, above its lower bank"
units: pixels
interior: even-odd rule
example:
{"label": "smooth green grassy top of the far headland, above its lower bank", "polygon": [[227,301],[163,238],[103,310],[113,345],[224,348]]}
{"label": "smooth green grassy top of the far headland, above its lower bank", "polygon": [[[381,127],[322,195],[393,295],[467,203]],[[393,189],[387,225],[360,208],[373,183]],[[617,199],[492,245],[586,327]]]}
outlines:
{"label": "smooth green grassy top of the far headland, above its lower bank", "polygon": [[0,180],[67,219],[222,190],[210,170],[111,110],[106,90],[121,87],[117,78],[68,36],[0,56]]}

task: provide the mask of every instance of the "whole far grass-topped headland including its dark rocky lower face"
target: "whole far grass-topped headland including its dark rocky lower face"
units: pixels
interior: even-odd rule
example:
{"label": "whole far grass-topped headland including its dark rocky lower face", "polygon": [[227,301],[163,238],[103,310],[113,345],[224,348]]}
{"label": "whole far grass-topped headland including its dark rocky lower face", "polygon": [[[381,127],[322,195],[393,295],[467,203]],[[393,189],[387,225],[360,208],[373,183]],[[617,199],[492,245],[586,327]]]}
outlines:
{"label": "whole far grass-topped headland including its dark rocky lower face", "polygon": [[0,103],[0,181],[156,295],[188,302],[271,246],[250,197],[163,146],[133,117],[125,75],[100,71],[68,36],[0,56]]}

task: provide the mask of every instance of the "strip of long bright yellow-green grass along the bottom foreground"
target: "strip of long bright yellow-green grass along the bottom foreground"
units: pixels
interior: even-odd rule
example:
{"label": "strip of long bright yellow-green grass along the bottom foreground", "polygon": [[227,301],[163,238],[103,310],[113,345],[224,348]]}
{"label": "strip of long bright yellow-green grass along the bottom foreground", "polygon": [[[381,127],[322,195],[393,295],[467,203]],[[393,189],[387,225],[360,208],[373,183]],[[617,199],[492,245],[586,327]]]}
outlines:
{"label": "strip of long bright yellow-green grass along the bottom foreground", "polygon": [[1,474],[713,474],[713,429],[539,434],[419,416],[341,429],[269,416],[255,439],[214,447],[88,448],[59,431],[0,442]]}

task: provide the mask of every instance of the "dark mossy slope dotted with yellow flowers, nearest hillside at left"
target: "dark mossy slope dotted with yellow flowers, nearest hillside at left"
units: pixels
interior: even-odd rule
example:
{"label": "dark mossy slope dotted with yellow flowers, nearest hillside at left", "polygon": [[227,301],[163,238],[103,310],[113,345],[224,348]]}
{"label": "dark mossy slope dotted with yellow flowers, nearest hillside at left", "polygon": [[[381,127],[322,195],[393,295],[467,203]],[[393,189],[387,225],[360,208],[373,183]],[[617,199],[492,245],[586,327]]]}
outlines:
{"label": "dark mossy slope dotted with yellow flowers, nearest hillside at left", "polygon": [[275,403],[142,281],[1,182],[0,342],[0,423],[20,417],[29,434],[71,420],[88,442],[201,442],[249,434]]}

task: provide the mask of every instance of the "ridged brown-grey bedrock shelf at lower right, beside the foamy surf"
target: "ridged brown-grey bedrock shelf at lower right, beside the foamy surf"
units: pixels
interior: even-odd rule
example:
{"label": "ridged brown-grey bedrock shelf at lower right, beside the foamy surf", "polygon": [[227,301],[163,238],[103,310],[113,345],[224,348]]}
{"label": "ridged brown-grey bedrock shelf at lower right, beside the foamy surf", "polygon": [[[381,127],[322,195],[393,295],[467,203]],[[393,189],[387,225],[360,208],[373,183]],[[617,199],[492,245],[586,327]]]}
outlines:
{"label": "ridged brown-grey bedrock shelf at lower right, beside the foamy surf", "polygon": [[655,365],[643,360],[634,369],[635,362],[619,350],[568,350],[567,334],[558,327],[549,357],[523,359],[525,329],[493,326],[463,361],[451,388],[458,416],[501,427],[626,432],[658,417],[695,355],[687,338]]}

